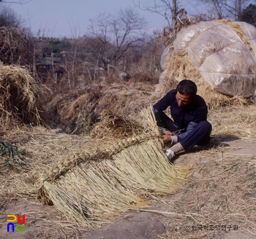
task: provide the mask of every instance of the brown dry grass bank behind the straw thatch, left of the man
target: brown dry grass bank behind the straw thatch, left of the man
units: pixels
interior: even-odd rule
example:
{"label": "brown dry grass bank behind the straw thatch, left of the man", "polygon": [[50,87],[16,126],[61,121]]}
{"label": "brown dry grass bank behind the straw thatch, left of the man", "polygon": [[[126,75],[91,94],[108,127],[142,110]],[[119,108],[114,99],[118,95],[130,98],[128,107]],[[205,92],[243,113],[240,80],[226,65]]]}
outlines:
{"label": "brown dry grass bank behind the straw thatch, left of the man", "polygon": [[143,82],[88,85],[72,93],[56,95],[45,109],[53,122],[52,128],[58,125],[66,133],[88,134],[104,109],[138,119],[140,109],[153,102],[153,90],[154,85]]}

